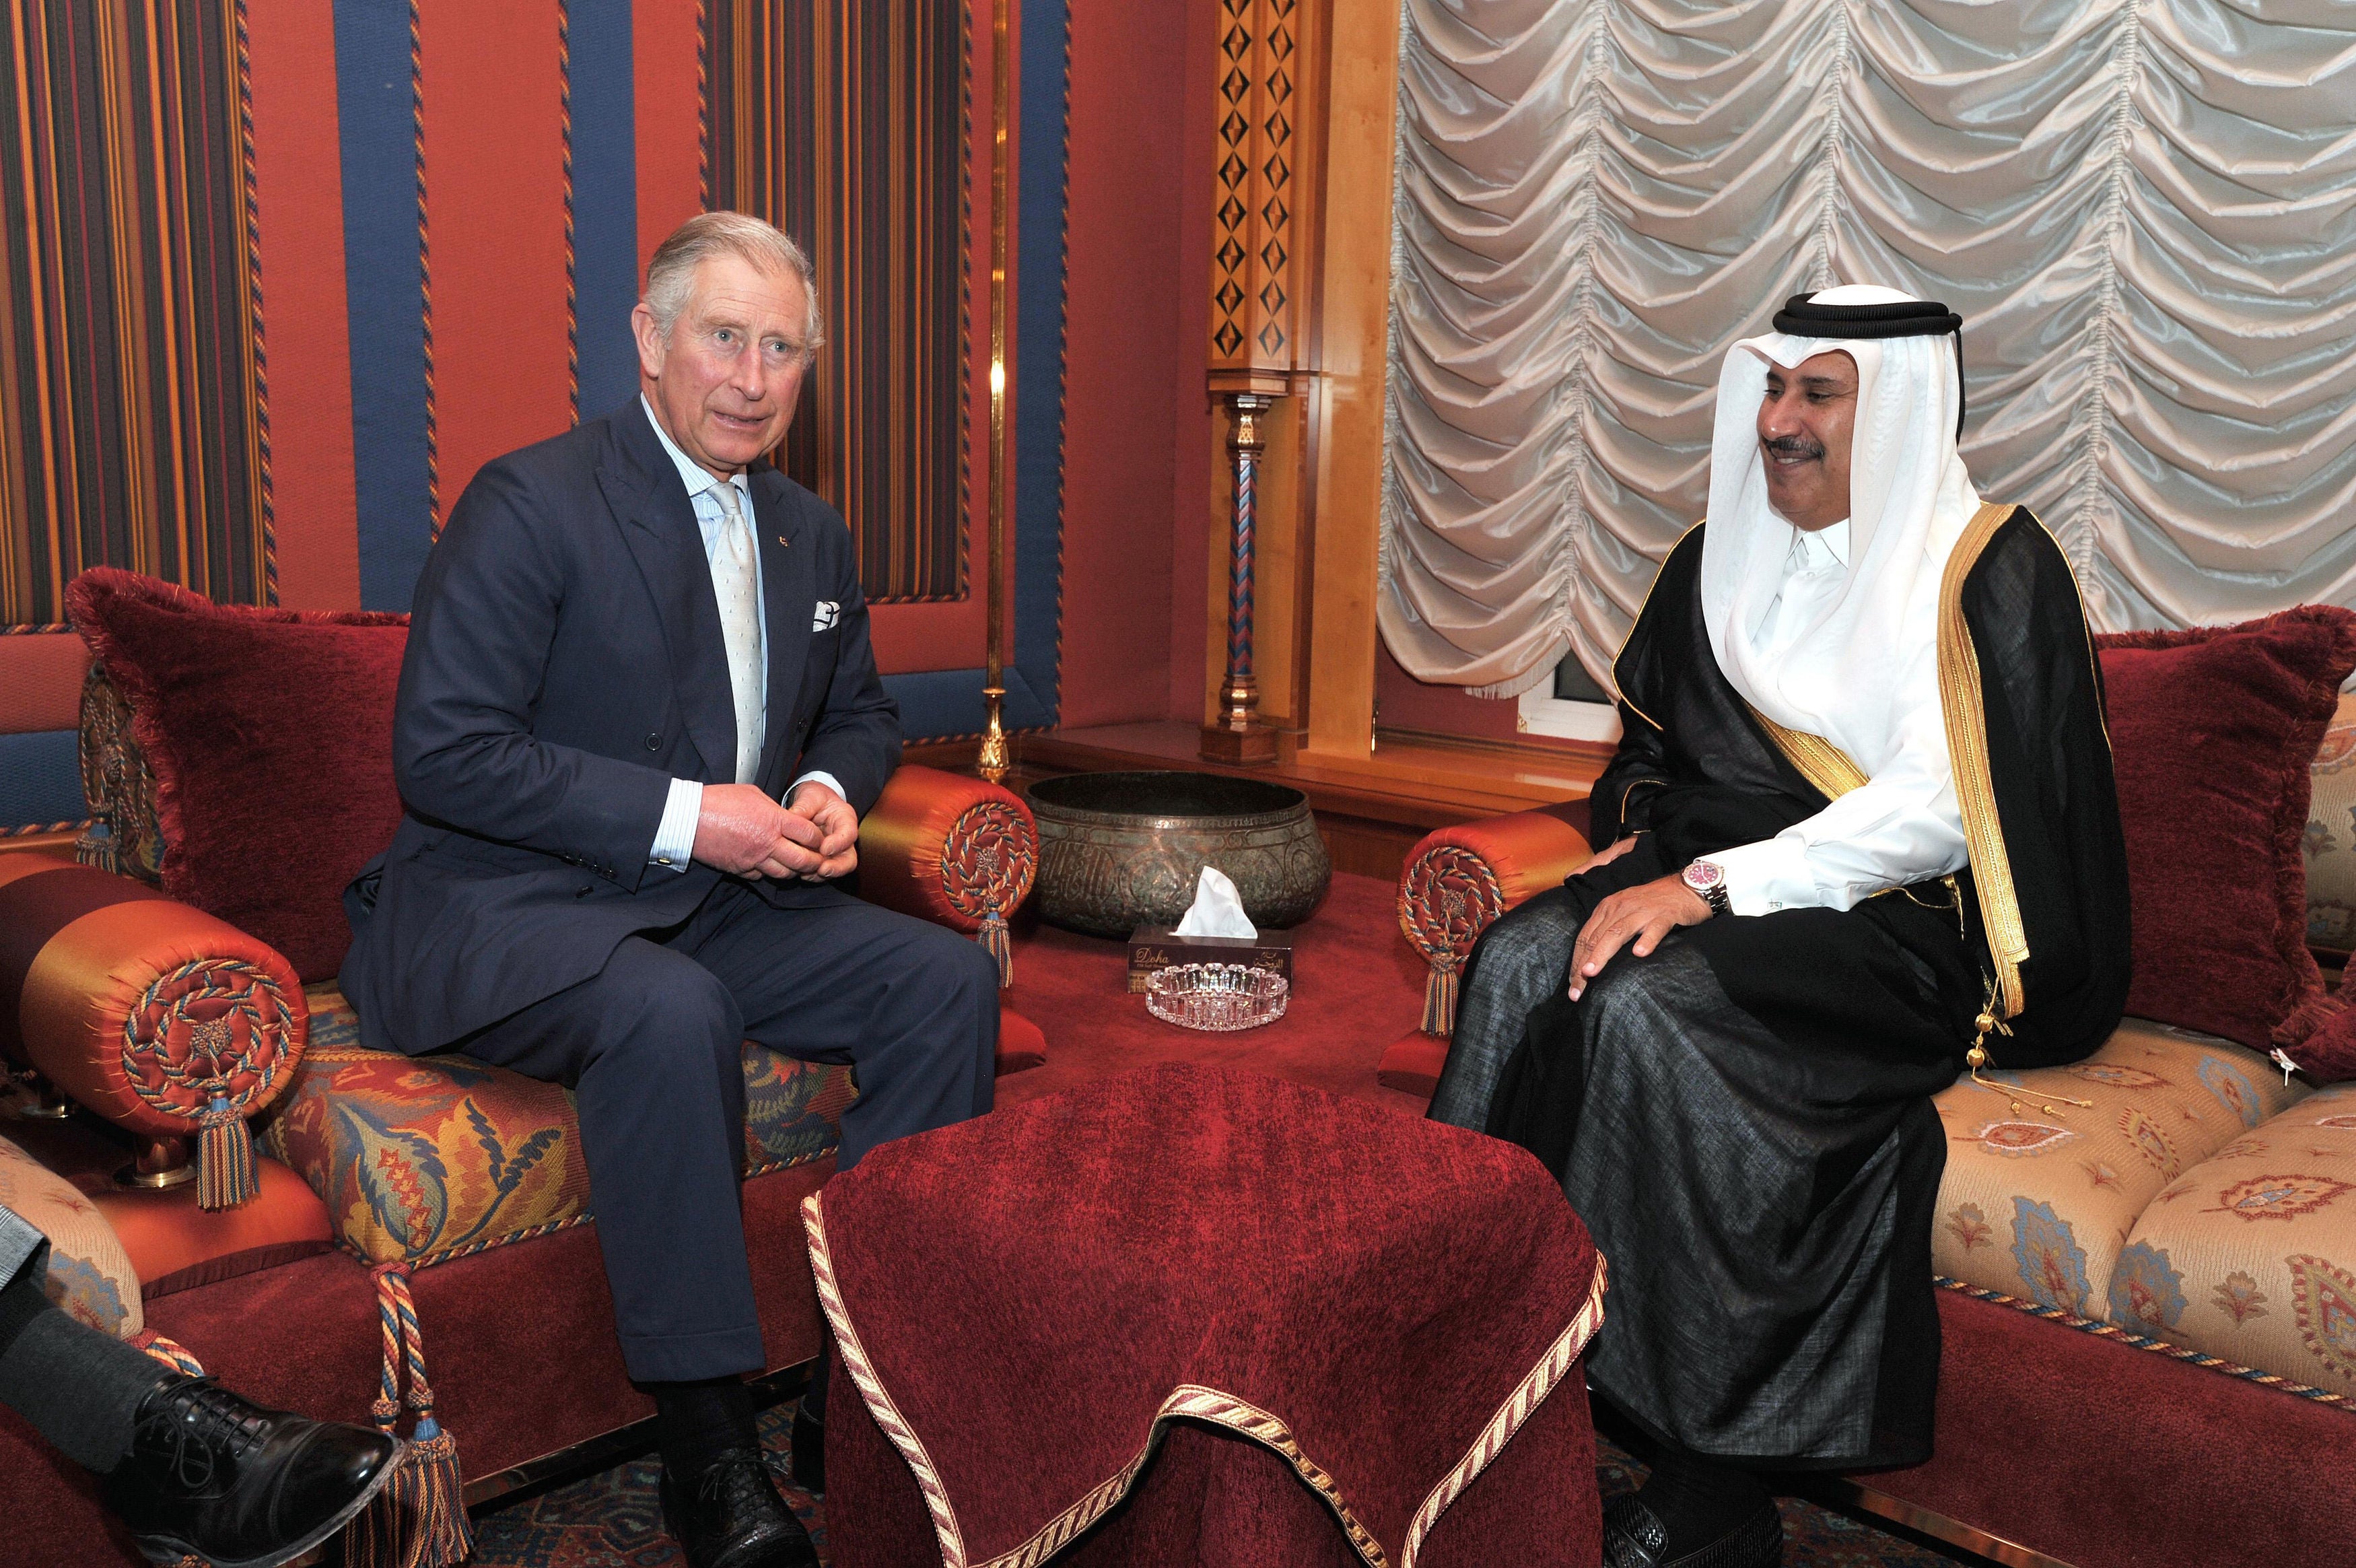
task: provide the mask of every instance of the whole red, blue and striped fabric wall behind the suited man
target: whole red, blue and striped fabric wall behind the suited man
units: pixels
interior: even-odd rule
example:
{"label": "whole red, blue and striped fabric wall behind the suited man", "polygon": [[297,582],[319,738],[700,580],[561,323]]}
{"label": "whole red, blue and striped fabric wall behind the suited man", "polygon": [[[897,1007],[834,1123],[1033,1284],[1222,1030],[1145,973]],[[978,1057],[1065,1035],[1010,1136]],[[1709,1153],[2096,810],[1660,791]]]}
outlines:
{"label": "whole red, blue and striped fabric wall behind the suited man", "polygon": [[[1039,726],[1058,674],[1067,59],[1063,0],[1011,7],[1008,722]],[[721,200],[719,146],[728,198],[766,203],[841,278],[789,460],[839,486],[860,531],[886,686],[912,738],[973,733],[987,19],[959,0],[14,0],[0,630],[54,627],[94,561],[224,601],[283,587],[302,608],[408,608],[436,514],[483,460],[634,394],[641,269]],[[740,38],[768,64],[716,78]],[[75,637],[0,634],[0,832],[80,816],[80,674]]]}

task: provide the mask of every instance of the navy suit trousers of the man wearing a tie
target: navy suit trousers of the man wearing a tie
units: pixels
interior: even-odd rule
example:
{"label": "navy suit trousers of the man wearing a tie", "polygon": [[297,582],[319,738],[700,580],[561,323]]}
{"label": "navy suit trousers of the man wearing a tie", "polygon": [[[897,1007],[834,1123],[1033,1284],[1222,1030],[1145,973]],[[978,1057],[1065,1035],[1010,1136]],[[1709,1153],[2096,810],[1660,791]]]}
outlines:
{"label": "navy suit trousers of the man wearing a tie", "polygon": [[775,908],[719,882],[686,922],[455,1049],[575,1092],[622,1358],[638,1382],[686,1382],[766,1370],[737,1191],[742,1042],[851,1063],[851,1170],[990,1111],[997,990],[994,960],[942,927],[841,889]]}

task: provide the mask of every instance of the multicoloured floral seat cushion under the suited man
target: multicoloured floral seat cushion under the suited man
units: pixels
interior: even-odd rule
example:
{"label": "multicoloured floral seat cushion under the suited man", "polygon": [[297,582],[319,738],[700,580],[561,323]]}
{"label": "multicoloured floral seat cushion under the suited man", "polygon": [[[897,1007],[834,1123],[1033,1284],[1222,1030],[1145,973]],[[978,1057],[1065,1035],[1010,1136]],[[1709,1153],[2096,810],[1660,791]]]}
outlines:
{"label": "multicoloured floral seat cushion under the suited man", "polygon": [[[262,1134],[349,1250],[422,1266],[591,1217],[565,1089],[466,1056],[363,1049],[335,986],[306,995],[311,1049]],[[747,1042],[749,1174],[832,1153],[851,1099],[851,1068]]]}

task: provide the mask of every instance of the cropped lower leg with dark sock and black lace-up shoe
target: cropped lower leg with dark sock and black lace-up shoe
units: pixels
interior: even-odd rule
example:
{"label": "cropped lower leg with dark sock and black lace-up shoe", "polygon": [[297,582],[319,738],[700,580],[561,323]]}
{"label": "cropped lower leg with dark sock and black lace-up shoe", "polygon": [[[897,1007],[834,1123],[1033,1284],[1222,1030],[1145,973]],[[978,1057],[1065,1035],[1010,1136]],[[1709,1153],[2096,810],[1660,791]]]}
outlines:
{"label": "cropped lower leg with dark sock and black lace-up shoe", "polygon": [[0,1405],[106,1476],[106,1504],[151,1556],[269,1568],[339,1530],[401,1443],[262,1410],[59,1311],[49,1243],[0,1207]]}

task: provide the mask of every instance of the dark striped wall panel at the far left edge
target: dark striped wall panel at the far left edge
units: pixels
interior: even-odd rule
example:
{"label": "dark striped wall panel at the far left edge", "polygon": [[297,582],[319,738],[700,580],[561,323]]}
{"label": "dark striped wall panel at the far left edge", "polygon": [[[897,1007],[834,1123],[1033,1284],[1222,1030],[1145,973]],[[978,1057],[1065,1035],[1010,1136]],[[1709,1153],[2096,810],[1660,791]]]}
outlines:
{"label": "dark striped wall panel at the far left edge", "polygon": [[85,566],[276,597],[240,0],[16,0],[0,61],[0,622]]}

